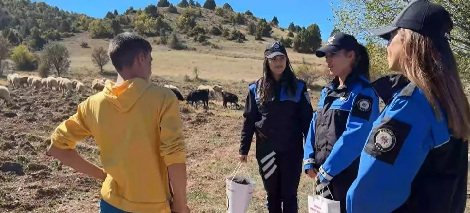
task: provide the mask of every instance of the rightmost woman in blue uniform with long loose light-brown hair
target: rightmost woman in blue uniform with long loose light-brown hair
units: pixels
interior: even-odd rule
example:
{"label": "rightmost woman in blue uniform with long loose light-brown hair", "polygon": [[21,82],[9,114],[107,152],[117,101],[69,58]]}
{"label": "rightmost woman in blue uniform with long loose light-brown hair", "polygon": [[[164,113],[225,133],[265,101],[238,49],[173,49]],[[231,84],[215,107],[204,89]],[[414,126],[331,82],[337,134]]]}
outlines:
{"label": "rightmost woman in blue uniform with long loose light-brown hair", "polygon": [[373,83],[386,106],[362,151],[348,190],[348,213],[463,213],[470,109],[450,49],[450,14],[427,0],[410,2],[388,40],[392,75]]}

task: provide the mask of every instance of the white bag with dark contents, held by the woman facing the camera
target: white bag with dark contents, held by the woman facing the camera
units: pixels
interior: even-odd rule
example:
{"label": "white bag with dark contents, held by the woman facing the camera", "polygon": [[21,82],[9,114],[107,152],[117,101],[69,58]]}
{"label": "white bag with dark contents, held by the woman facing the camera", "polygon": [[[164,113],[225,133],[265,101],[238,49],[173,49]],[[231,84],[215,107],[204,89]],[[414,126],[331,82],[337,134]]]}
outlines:
{"label": "white bag with dark contents, held by the woman facing the camera", "polygon": [[[251,177],[236,175],[241,166],[241,163],[239,163],[235,168],[235,173],[232,173],[225,179],[227,193],[227,213],[246,213],[253,197],[253,191],[256,185],[255,181]],[[235,183],[232,181],[234,179],[246,180],[248,185]]]}

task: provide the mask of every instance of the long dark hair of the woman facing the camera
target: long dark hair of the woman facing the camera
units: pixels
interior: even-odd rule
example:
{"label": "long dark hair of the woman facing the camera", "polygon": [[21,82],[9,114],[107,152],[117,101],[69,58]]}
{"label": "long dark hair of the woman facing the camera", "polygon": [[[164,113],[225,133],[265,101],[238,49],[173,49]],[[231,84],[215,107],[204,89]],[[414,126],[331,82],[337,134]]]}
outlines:
{"label": "long dark hair of the woman facing the camera", "polygon": [[[261,104],[265,104],[273,98],[273,85],[274,77],[271,69],[269,68],[269,59],[264,58],[263,62],[263,77],[258,81],[257,94]],[[297,92],[297,76],[294,74],[294,69],[286,57],[286,69],[282,72],[281,81],[286,83],[286,92],[288,95],[293,96]]]}

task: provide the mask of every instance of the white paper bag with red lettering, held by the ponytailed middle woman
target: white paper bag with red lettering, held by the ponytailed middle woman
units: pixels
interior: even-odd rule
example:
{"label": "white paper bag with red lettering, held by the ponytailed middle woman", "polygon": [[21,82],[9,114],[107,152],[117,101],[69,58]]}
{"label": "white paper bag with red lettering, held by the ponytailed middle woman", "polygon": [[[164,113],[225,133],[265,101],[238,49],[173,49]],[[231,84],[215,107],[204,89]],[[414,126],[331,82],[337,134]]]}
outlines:
{"label": "white paper bag with red lettering, held by the ponytailed middle woman", "polygon": [[341,205],[339,201],[330,200],[320,195],[316,195],[315,185],[315,182],[313,182],[313,196],[308,197],[309,213],[341,213]]}

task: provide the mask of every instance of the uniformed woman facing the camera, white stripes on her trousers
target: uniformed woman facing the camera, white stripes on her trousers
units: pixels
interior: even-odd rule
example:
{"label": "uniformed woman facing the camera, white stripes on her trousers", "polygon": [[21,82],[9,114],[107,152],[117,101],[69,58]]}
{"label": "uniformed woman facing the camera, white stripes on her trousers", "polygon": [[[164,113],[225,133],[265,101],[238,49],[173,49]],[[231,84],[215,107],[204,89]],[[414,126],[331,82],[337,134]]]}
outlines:
{"label": "uniformed woman facing the camera, white stripes on her trousers", "polygon": [[240,161],[246,162],[256,132],[256,159],[269,213],[297,213],[303,140],[313,109],[305,82],[297,79],[284,46],[267,46],[263,77],[250,84],[241,133]]}

